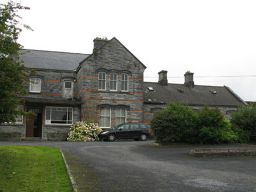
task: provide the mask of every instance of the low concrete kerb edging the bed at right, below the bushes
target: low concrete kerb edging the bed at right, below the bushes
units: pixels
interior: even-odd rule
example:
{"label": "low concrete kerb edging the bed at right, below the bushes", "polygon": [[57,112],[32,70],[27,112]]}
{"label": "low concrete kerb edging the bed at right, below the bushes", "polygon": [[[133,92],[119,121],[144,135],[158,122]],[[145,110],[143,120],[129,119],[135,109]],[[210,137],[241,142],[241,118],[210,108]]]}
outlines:
{"label": "low concrete kerb edging the bed at right, below the bushes", "polygon": [[256,156],[256,148],[192,149],[195,157]]}

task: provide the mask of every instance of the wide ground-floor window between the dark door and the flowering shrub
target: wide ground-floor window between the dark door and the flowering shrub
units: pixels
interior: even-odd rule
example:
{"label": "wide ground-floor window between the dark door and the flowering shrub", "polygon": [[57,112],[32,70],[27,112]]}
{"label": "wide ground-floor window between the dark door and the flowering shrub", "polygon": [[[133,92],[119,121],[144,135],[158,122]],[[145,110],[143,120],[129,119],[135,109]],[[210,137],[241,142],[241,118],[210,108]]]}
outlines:
{"label": "wide ground-floor window between the dark door and the flowering shrub", "polygon": [[46,107],[46,124],[73,124],[73,108]]}

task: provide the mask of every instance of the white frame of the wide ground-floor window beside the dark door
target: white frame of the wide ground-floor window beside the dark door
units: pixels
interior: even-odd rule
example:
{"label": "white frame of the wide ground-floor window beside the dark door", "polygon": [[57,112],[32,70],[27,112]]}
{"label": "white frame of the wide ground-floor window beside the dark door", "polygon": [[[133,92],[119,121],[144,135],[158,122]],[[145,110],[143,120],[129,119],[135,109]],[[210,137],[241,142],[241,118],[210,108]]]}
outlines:
{"label": "white frame of the wide ground-floor window beside the dark door", "polygon": [[[53,112],[53,108],[56,108],[56,111],[54,112],[58,112],[58,111],[63,111],[63,109],[65,109],[67,117],[66,120],[62,120],[62,119],[52,119],[52,112]],[[48,111],[47,109],[50,109],[50,111]],[[70,111],[71,109],[71,111]],[[48,112],[50,114],[48,114]],[[69,112],[72,112],[71,115],[71,120],[69,120]],[[52,107],[52,106],[47,106],[45,108],[45,124],[50,124],[50,125],[73,125],[73,114],[74,114],[74,109],[72,107]],[[63,122],[63,123],[54,123],[52,121],[59,121],[59,122]],[[66,122],[66,123],[64,123]]]}

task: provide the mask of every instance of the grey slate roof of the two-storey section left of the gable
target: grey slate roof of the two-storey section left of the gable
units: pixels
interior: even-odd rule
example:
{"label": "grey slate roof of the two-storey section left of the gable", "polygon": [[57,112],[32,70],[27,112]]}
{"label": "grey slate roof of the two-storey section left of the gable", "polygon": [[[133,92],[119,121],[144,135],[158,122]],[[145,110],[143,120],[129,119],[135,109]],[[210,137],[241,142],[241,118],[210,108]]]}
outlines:
{"label": "grey slate roof of the two-storey section left of the gable", "polygon": [[50,70],[75,70],[90,54],[50,52],[22,49],[21,56],[26,67]]}

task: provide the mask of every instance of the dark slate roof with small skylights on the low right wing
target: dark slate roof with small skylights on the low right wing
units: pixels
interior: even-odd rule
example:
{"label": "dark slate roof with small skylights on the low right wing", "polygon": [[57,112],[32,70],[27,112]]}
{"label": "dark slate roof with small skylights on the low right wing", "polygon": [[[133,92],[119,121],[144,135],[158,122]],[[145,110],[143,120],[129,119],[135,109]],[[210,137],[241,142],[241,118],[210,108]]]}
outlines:
{"label": "dark slate roof with small skylights on the low right wing", "polygon": [[[184,84],[168,84],[164,86],[150,82],[144,82],[143,86],[145,104],[183,102],[191,106],[208,105],[218,107],[237,107],[241,103],[245,104],[230,88],[225,86],[194,85],[193,88],[190,88]],[[150,88],[153,88],[153,90],[150,91]]]}

